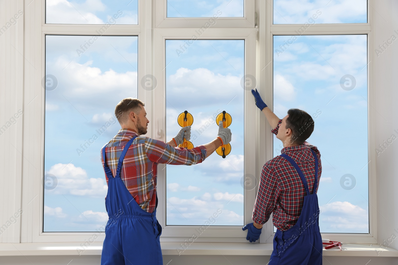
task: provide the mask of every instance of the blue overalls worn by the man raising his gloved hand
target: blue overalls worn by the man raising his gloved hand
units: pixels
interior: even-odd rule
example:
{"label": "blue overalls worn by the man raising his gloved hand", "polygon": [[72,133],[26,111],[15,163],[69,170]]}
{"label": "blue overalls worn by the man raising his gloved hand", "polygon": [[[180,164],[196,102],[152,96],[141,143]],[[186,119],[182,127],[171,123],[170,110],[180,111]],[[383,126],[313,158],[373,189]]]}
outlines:
{"label": "blue overalls worn by the man raising his gloved hand", "polygon": [[306,196],[297,223],[286,231],[277,230],[273,239],[273,252],[269,265],[322,265],[322,238],[319,231],[319,207],[316,186],[318,183],[318,157],[315,158],[315,181],[312,194],[304,174],[296,162],[286,154],[280,155],[289,161],[300,175]]}

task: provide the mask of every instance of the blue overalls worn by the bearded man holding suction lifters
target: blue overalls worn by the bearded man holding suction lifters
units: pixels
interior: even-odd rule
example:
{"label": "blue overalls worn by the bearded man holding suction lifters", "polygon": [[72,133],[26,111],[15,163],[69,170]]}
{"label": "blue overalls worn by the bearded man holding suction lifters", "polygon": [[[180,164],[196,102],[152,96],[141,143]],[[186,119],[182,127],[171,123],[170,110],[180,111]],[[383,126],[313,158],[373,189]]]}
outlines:
{"label": "blue overalls worn by the bearded man holding suction lifters", "polygon": [[159,240],[162,226],[156,220],[156,209],[153,213],[144,211],[120,178],[123,159],[136,137],[124,147],[114,178],[105,159],[107,144],[102,147],[104,169],[108,177],[105,207],[109,219],[105,226],[101,265],[163,264]]}

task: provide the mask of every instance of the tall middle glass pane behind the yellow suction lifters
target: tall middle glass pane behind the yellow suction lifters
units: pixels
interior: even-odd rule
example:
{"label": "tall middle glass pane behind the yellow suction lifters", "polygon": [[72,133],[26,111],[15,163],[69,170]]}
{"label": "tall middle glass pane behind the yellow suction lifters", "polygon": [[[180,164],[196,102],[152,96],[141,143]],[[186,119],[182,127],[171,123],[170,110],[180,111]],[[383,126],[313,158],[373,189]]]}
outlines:
{"label": "tall middle glass pane behind the yellow suction lifters", "polygon": [[185,110],[193,116],[194,146],[217,137],[220,112],[232,117],[225,159],[214,152],[200,164],[167,165],[166,224],[244,225],[244,40],[166,40],[166,64],[166,139],[181,129],[177,118]]}

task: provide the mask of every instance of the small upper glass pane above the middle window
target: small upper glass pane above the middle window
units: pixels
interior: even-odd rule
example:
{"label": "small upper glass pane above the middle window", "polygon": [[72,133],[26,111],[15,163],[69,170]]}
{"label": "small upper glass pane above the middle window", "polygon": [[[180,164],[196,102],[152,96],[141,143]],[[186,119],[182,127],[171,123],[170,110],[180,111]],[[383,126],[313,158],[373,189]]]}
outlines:
{"label": "small upper glass pane above the middle window", "polygon": [[167,0],[167,17],[243,17],[243,6],[244,0]]}

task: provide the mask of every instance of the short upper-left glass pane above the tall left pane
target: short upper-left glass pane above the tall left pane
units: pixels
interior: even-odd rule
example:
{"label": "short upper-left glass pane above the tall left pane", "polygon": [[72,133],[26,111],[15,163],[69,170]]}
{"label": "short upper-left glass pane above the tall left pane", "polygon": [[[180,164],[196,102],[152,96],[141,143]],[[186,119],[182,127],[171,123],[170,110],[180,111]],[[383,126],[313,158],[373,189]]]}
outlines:
{"label": "short upper-left glass pane above the tall left pane", "polygon": [[138,24],[138,0],[46,0],[48,24]]}

